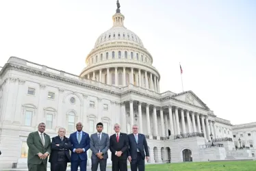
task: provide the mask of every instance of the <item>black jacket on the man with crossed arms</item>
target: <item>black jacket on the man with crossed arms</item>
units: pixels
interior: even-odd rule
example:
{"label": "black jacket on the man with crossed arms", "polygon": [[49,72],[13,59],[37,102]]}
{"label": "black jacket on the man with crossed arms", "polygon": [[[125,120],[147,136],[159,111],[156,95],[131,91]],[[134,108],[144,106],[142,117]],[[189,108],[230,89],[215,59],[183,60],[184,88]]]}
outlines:
{"label": "black jacket on the man with crossed arms", "polygon": [[[60,146],[56,146],[56,144],[59,144]],[[59,151],[64,151],[67,162],[71,162],[71,155],[69,155],[69,150],[71,150],[71,142],[69,142],[69,139],[67,137],[64,137],[63,141],[60,139],[59,136],[53,137],[51,141],[51,155],[49,158],[49,162],[57,162],[57,153]]]}

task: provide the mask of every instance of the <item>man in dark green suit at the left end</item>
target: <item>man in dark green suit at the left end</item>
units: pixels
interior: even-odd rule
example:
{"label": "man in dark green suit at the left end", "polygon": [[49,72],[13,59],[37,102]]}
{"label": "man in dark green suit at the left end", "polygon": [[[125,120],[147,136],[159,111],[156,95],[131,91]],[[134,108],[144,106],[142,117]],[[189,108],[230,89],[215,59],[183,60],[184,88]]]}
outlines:
{"label": "man in dark green suit at the left end", "polygon": [[47,171],[47,159],[51,153],[50,136],[44,133],[45,124],[38,124],[38,131],[27,137],[27,166],[29,171]]}

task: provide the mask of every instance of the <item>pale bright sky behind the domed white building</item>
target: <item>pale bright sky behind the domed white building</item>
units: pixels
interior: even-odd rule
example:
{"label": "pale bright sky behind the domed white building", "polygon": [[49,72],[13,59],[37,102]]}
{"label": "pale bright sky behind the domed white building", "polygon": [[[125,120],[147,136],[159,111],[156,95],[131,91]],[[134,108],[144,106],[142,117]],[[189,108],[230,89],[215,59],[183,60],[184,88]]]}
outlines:
{"label": "pale bright sky behind the domed white building", "polygon": [[[256,1],[119,2],[161,92],[192,90],[231,124],[256,122]],[[115,11],[115,0],[0,0],[0,66],[16,56],[79,75]]]}

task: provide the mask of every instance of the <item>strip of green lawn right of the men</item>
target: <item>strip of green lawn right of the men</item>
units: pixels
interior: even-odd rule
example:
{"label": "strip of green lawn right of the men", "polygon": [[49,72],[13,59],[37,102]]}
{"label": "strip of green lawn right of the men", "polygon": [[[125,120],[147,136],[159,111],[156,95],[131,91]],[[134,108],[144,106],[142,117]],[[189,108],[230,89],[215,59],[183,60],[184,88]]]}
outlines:
{"label": "strip of green lawn right of the men", "polygon": [[256,171],[256,161],[214,161],[146,165],[146,171]]}

